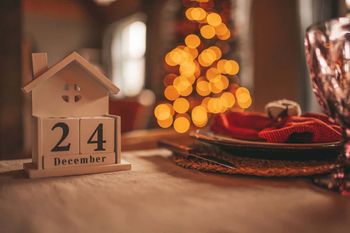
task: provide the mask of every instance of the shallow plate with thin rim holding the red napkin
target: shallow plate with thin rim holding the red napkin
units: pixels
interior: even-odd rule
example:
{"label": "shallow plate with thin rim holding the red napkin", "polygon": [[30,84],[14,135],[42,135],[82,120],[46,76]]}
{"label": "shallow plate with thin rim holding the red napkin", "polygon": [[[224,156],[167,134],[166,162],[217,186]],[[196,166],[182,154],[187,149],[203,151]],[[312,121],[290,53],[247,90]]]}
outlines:
{"label": "shallow plate with thin rim holding the red napkin", "polygon": [[338,150],[340,141],[332,143],[268,143],[266,141],[247,141],[231,138],[223,134],[214,133],[210,130],[199,129],[190,133],[190,136],[211,144],[224,145],[234,148],[247,148],[258,150],[283,150],[284,152],[315,151],[315,150]]}

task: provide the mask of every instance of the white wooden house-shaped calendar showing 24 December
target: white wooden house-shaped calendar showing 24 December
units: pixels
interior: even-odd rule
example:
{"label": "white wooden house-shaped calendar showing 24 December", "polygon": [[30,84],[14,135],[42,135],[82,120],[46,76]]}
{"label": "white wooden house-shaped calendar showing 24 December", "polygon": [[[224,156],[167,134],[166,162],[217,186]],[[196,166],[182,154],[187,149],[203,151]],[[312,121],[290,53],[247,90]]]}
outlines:
{"label": "white wooden house-shaped calendar showing 24 December", "polygon": [[120,117],[109,115],[109,93],[119,88],[73,52],[48,68],[46,53],[33,53],[29,178],[131,170],[121,160]]}

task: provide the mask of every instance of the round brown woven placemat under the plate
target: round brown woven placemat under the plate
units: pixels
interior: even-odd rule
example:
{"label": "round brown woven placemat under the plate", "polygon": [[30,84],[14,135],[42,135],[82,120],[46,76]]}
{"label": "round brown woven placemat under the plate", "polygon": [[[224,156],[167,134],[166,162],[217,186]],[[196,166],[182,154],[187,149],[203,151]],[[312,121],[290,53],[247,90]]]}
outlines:
{"label": "round brown woven placemat under the plate", "polygon": [[182,167],[196,169],[202,172],[220,172],[266,177],[295,177],[330,173],[339,167],[340,164],[339,157],[311,161],[283,161],[239,157],[223,151],[215,154],[211,153],[210,155],[229,161],[237,168],[227,168],[190,156],[186,159],[176,154],[173,155],[173,161]]}

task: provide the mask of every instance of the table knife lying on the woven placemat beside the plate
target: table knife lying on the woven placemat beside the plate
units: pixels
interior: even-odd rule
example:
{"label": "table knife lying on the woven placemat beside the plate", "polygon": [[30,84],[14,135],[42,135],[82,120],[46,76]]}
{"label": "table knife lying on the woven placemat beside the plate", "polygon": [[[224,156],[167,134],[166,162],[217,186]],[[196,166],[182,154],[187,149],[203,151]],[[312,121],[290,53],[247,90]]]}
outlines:
{"label": "table knife lying on the woven placemat beside the plate", "polygon": [[222,165],[224,167],[231,168],[231,169],[237,168],[235,165],[233,165],[232,163],[230,163],[228,161],[216,158],[214,156],[210,156],[207,153],[197,152],[197,150],[194,148],[191,148],[189,146],[180,145],[177,143],[173,143],[172,141],[160,140],[160,141],[158,141],[158,147],[166,148],[170,151],[173,151],[176,154],[181,155],[182,157],[184,157],[186,159],[188,158],[188,156],[193,156],[193,157],[207,160],[207,161],[210,161],[210,162],[213,162],[213,163],[216,163],[216,164],[219,164],[219,165]]}

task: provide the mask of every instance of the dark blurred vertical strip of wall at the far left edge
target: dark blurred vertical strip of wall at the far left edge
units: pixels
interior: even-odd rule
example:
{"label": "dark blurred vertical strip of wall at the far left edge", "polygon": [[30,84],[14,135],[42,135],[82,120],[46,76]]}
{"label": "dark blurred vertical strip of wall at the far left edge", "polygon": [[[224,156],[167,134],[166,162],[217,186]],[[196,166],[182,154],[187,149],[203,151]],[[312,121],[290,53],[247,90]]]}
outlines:
{"label": "dark blurred vertical strip of wall at the far left edge", "polygon": [[20,0],[0,7],[0,159],[22,150]]}

